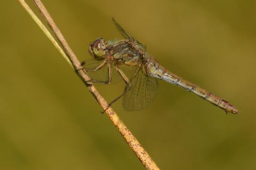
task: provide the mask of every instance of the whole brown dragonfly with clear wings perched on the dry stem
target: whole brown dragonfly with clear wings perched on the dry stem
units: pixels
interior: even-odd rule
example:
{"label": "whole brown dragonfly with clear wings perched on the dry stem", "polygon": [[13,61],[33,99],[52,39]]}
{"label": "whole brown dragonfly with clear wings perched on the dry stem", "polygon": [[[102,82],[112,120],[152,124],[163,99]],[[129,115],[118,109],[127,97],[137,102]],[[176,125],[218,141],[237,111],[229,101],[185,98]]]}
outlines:
{"label": "whole brown dragonfly with clear wings perched on the dry stem", "polygon": [[112,20],[124,39],[105,41],[98,38],[92,41],[88,50],[93,58],[81,63],[93,83],[111,84],[120,80],[125,82],[124,93],[114,99],[109,107],[120,98],[123,98],[123,107],[127,111],[148,107],[157,94],[160,79],[198,95],[227,114],[240,113],[227,100],[165,69],[156,59],[150,57],[145,45],[133,38],[113,18]]}

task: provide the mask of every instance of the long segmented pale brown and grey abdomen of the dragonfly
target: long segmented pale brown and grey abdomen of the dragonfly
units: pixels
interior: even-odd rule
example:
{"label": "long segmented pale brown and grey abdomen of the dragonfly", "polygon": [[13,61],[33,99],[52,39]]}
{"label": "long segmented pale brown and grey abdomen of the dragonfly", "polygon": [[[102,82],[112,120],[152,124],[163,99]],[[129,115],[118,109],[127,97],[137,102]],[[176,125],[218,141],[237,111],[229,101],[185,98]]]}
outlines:
{"label": "long segmented pale brown and grey abdomen of the dragonfly", "polygon": [[191,83],[190,81],[187,81],[183,79],[180,76],[177,76],[176,74],[171,73],[167,69],[165,69],[158,61],[156,61],[153,58],[147,58],[146,59],[147,66],[149,72],[156,78],[170,82],[172,84],[175,84],[179,87],[184,88],[187,91],[190,91],[201,98],[209,101],[209,103],[212,103],[213,105],[223,109],[225,112],[230,112],[230,113],[240,113],[236,109],[235,106],[231,105],[228,101],[223,100],[221,97],[218,97],[209,91],[200,88],[194,83]]}

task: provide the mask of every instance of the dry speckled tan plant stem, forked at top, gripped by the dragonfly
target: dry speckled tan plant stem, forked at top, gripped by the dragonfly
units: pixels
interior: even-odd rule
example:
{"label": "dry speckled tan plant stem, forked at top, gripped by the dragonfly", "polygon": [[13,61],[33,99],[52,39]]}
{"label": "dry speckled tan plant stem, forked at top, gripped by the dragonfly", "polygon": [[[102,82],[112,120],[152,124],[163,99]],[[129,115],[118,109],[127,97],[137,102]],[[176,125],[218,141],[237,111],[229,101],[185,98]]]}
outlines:
{"label": "dry speckled tan plant stem, forked at top, gripped by the dragonfly", "polygon": [[[47,35],[47,37],[50,39],[50,41],[54,44],[54,46],[59,50],[59,52],[62,54],[62,56],[66,59],[66,61],[69,63],[69,65],[76,71],[78,76],[81,78],[81,80],[85,83],[89,91],[93,94],[93,96],[96,98],[102,109],[108,108],[107,101],[99,94],[99,92],[96,90],[96,88],[92,84],[87,84],[86,82],[90,80],[90,78],[87,76],[87,74],[81,70],[81,64],[79,60],[77,59],[76,55],[72,52],[71,48],[67,44],[66,40],[64,39],[61,31],[57,28],[56,24],[52,20],[50,14],[46,10],[46,8],[43,6],[41,1],[39,0],[33,0],[34,4],[42,14],[44,20],[48,23],[48,25],[51,27],[53,32],[55,33],[59,43],[61,43],[63,49],[59,46],[59,44],[55,41],[55,39],[52,37],[51,33],[47,30],[47,28],[40,22],[40,20],[37,18],[37,16],[33,13],[33,11],[27,6],[24,0],[18,0],[21,5],[25,8],[25,10],[31,15],[33,20],[38,24],[38,26],[42,29],[42,31]],[[140,159],[142,164],[146,169],[159,169],[156,165],[156,163],[152,160],[152,158],[149,157],[145,149],[140,145],[140,143],[135,139],[135,137],[131,134],[129,129],[124,125],[124,123],[121,121],[121,119],[117,116],[115,111],[112,108],[108,108],[106,110],[107,115],[109,116],[112,123],[116,126],[118,131],[122,134],[126,142],[129,144],[131,149],[134,151],[134,153],[137,155],[137,157]]]}

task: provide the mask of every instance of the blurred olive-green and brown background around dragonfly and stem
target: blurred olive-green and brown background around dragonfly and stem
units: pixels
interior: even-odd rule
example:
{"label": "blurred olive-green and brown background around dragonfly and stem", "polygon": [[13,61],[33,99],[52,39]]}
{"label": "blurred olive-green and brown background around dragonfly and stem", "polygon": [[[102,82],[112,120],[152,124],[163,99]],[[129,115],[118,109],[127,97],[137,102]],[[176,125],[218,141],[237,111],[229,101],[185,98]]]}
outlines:
{"label": "blurred olive-green and brown background around dragonfly and stem", "polygon": [[[43,3],[80,61],[90,41],[121,38],[113,16],[170,71],[242,111],[225,115],[163,81],[145,110],[116,103],[160,168],[256,169],[255,1]],[[0,169],[144,169],[18,1],[1,6]],[[123,88],[97,86],[108,101]]]}

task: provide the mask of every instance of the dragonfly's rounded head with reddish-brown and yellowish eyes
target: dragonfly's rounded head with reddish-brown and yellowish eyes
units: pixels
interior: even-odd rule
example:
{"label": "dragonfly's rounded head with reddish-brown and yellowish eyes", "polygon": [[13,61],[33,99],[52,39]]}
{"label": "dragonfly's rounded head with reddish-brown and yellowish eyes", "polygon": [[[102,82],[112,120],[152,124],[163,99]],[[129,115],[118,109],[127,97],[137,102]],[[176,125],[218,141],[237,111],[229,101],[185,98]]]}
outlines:
{"label": "dragonfly's rounded head with reddish-brown and yellowish eyes", "polygon": [[107,48],[108,44],[103,38],[99,38],[95,41],[92,41],[89,45],[89,53],[94,58],[101,58],[104,57],[107,53]]}

